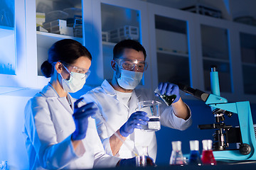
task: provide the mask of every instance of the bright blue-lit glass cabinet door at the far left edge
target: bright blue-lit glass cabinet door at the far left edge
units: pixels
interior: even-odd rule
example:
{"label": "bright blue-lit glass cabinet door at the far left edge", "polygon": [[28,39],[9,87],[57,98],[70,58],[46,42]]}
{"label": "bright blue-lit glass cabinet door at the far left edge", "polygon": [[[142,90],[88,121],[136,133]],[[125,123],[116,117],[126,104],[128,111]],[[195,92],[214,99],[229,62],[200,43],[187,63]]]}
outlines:
{"label": "bright blue-lit glass cabinet door at the far left edge", "polygon": [[7,91],[26,86],[24,18],[24,1],[1,0],[0,86],[9,86]]}

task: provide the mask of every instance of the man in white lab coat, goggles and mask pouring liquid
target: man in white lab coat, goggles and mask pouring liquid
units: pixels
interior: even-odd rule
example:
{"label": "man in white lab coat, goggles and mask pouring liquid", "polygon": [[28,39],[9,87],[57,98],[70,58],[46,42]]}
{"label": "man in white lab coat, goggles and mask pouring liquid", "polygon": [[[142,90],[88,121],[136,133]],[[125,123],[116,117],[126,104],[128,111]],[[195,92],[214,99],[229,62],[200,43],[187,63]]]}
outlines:
{"label": "man in white lab coat, goggles and mask pouring liquid", "polygon": [[[134,157],[130,148],[142,153],[142,147],[148,147],[151,158],[156,160],[155,132],[139,130],[148,120],[144,112],[137,111],[139,101],[154,99],[153,91],[135,89],[142,79],[147,63],[144,47],[135,40],[122,40],[114,46],[111,62],[114,75],[112,81],[103,81],[102,85],[88,91],[83,97],[85,102],[95,102],[98,111],[107,121],[96,118],[97,132],[107,154],[120,158]],[[178,86],[171,83],[160,83],[161,94],[175,94],[177,97],[171,106],[161,104],[161,125],[178,130],[186,130],[191,125],[191,111],[183,103]],[[114,132],[126,142],[114,135]]]}

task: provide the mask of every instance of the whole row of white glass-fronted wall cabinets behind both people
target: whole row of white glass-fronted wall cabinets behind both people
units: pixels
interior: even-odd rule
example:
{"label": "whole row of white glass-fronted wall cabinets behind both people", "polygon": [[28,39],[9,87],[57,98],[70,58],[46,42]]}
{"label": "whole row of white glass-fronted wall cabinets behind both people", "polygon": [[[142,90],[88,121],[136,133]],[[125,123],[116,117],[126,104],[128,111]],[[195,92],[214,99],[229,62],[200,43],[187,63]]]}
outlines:
{"label": "whole row of white glass-fronted wall cabinets behind both people", "polygon": [[78,40],[92,53],[87,85],[99,86],[112,79],[114,45],[129,38],[147,52],[141,86],[155,89],[171,81],[209,92],[210,65],[217,65],[222,96],[256,102],[253,26],[136,0],[24,0],[15,6],[14,26],[0,27],[1,43],[11,49],[1,48],[9,57],[1,56],[0,86],[41,89],[49,81],[41,64],[63,38]]}

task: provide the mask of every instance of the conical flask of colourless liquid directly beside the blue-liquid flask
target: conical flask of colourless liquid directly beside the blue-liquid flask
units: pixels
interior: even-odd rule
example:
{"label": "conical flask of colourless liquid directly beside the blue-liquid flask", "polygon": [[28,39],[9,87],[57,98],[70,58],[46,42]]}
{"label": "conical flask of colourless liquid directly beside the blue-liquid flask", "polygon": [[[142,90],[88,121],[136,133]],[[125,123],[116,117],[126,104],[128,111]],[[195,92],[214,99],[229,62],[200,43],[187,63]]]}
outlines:
{"label": "conical flask of colourless liquid directly beside the blue-liquid flask", "polygon": [[181,141],[171,142],[172,152],[170,158],[171,165],[184,165],[186,164],[183,154],[181,152]]}

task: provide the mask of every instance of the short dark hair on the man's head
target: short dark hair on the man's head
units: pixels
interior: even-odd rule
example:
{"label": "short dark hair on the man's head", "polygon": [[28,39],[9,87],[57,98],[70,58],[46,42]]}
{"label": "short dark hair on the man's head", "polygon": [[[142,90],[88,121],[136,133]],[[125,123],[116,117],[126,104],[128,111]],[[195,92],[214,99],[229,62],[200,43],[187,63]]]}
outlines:
{"label": "short dark hair on the man's head", "polygon": [[146,60],[146,50],[145,48],[136,40],[122,40],[114,45],[113,49],[113,59],[119,58],[124,52],[125,48],[131,48],[137,50],[137,52],[143,52],[144,59]]}

